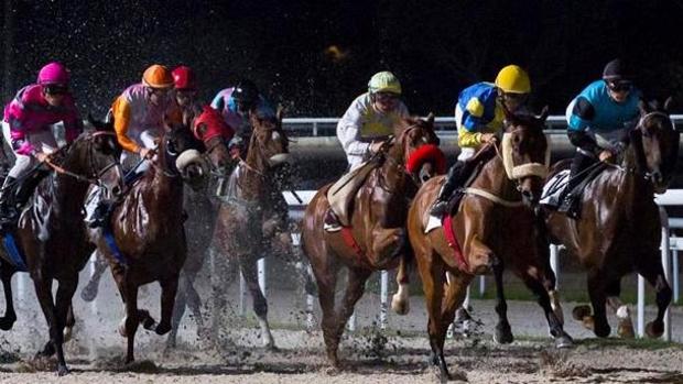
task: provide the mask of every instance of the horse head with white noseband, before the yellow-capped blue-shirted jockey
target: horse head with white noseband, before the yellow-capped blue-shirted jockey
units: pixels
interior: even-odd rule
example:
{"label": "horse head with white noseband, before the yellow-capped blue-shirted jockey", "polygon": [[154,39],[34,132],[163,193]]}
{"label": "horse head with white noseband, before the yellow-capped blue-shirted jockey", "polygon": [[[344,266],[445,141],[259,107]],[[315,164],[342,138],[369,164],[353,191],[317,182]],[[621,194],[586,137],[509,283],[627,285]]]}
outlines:
{"label": "horse head with white noseband, before the yellow-capped blue-shirted jockey", "polygon": [[509,179],[517,183],[525,205],[539,202],[550,164],[550,146],[543,133],[548,107],[540,117],[506,110],[501,142],[502,163]]}

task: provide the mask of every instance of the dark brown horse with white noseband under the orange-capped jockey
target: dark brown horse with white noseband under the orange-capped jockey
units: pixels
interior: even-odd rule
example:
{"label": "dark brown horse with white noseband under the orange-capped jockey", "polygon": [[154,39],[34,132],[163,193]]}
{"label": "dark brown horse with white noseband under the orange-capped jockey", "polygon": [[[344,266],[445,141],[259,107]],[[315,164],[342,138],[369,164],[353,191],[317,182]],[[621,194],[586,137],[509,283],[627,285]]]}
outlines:
{"label": "dark brown horse with white noseband under the orange-capped jockey", "polygon": [[[183,185],[200,186],[205,179],[206,165],[196,151],[200,144],[184,125],[166,128],[152,166],[115,208],[109,229],[90,231],[126,304],[126,317],[119,327],[121,336],[128,338],[126,363],[134,360],[140,322],[158,334],[171,330],[178,275],[186,255]],[[149,311],[138,309],[138,289],[151,282],[159,282],[162,289],[161,321],[156,326]]]}

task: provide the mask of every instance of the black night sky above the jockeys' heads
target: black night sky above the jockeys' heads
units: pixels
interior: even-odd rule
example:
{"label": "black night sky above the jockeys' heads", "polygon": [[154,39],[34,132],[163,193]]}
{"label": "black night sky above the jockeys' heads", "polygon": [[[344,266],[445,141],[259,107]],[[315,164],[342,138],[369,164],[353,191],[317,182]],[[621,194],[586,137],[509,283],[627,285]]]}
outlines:
{"label": "black night sky above the jockeys' heads", "polygon": [[382,69],[412,111],[451,114],[463,87],[517,63],[533,105],[563,113],[616,56],[637,65],[646,95],[674,94],[683,110],[681,1],[8,1],[3,97],[59,59],[96,113],[156,62],[195,67],[206,100],[247,76],[289,116],[311,117],[340,116]]}

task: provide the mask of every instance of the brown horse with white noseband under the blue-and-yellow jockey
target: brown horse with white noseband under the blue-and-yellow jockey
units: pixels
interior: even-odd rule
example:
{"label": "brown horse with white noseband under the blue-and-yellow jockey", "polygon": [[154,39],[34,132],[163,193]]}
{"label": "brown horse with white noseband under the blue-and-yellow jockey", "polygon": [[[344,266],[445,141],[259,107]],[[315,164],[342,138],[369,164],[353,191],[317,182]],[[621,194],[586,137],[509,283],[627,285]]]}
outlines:
{"label": "brown horse with white noseband under the blue-and-yellow jockey", "polygon": [[[568,338],[550,305],[550,283],[545,282],[550,267],[541,260],[539,226],[531,209],[541,196],[542,177],[548,171],[545,117],[545,111],[540,119],[508,113],[502,145],[495,149],[502,155],[499,153],[483,166],[465,189],[459,211],[446,217],[443,227],[427,220],[442,177],[425,183],[409,210],[408,232],[429,311],[432,363],[440,369],[442,381],[449,377],[443,354],[448,325],[474,276],[491,267],[497,276],[502,276],[503,264],[511,264],[539,296],[551,329],[559,337]],[[447,220],[452,220],[451,224]],[[452,234],[446,234],[446,228],[451,228]],[[502,281],[497,283],[502,289]],[[498,301],[496,310],[505,311],[505,301]]]}

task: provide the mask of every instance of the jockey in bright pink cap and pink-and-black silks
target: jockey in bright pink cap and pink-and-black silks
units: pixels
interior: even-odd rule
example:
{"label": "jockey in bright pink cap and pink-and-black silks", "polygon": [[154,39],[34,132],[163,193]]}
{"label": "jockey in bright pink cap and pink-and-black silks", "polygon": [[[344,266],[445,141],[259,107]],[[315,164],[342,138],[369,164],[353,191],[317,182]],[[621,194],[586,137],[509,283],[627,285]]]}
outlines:
{"label": "jockey in bright pink cap and pink-and-black silks", "polygon": [[76,140],[83,131],[83,121],[68,83],[68,69],[61,63],[50,63],[40,70],[37,84],[20,89],[4,108],[2,133],[17,155],[17,162],[0,190],[2,226],[15,221],[18,204],[25,201],[42,177],[47,175],[45,169],[39,169],[33,176],[28,173],[57,150],[51,125],[64,122],[67,143]]}

